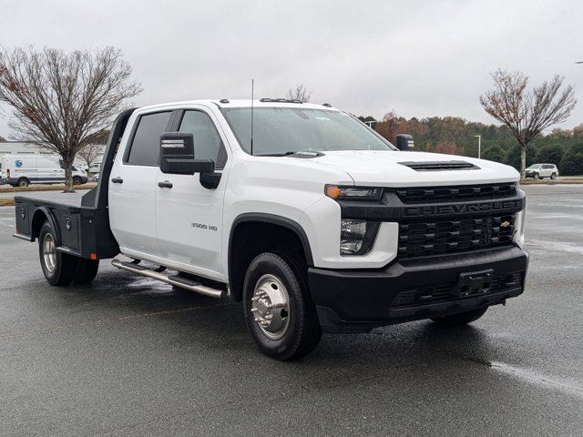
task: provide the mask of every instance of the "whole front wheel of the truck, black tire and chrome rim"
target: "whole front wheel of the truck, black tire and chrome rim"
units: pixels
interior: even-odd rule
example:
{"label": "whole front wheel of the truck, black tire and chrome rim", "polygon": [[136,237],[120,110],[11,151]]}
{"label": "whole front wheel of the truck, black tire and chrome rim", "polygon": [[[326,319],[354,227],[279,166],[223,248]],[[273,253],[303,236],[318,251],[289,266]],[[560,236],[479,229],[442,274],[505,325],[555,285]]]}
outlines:
{"label": "whole front wheel of the truck, black tire and chrome rim", "polygon": [[[284,254],[265,252],[251,261],[245,275],[243,310],[247,327],[260,350],[276,360],[301,358],[322,338],[308,290],[307,269],[302,264]],[[261,297],[261,292],[266,294]],[[256,315],[267,325],[256,320]]]}

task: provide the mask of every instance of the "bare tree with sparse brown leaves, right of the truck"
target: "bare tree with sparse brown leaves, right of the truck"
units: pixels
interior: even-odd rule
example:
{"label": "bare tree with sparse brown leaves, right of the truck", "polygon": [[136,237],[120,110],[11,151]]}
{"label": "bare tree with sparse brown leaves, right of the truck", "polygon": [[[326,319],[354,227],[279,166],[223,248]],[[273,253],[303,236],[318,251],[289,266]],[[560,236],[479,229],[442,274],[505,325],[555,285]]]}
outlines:
{"label": "bare tree with sparse brown leaves, right of the truck", "polygon": [[528,76],[521,72],[493,73],[494,88],[480,97],[486,112],[504,123],[520,144],[520,178],[525,178],[527,146],[547,127],[565,121],[577,104],[573,86],[559,93],[564,77],[555,76],[550,81],[527,91]]}

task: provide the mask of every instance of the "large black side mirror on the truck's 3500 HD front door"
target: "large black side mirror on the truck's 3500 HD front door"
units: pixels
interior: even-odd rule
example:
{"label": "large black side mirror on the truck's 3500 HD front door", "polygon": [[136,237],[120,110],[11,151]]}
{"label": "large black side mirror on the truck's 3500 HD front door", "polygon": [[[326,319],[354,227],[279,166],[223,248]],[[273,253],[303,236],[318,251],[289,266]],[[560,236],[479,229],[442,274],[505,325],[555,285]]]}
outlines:
{"label": "large black side mirror on the truck's 3500 HD front door", "polygon": [[184,132],[165,132],[160,136],[160,170],[171,175],[214,173],[211,159],[194,158],[194,137]]}

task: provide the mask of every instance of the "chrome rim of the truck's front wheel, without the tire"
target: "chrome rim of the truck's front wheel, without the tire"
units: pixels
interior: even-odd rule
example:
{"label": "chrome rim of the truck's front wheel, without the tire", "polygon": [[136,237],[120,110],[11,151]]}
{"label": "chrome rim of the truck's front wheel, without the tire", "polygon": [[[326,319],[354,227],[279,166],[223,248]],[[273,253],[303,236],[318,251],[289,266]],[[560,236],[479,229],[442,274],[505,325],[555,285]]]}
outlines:
{"label": "chrome rim of the truck's front wheel, without the tire", "polygon": [[251,313],[267,338],[279,340],[285,335],[290,325],[290,297],[280,279],[261,276],[251,298]]}

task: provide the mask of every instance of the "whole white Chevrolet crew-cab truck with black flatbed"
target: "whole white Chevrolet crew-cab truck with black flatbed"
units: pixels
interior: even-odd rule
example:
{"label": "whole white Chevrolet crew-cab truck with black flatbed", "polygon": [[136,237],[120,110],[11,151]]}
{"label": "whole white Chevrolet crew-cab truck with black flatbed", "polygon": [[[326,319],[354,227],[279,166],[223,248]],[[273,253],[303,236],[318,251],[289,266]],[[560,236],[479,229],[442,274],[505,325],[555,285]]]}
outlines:
{"label": "whole white Chevrolet crew-cab truck with black flatbed", "polygon": [[38,240],[53,285],[92,280],[113,259],[242,301],[253,339],[279,360],[312,351],[322,331],[463,325],[524,290],[525,194],[513,168],[412,146],[327,104],[131,109],[97,188],[16,197],[15,237]]}

